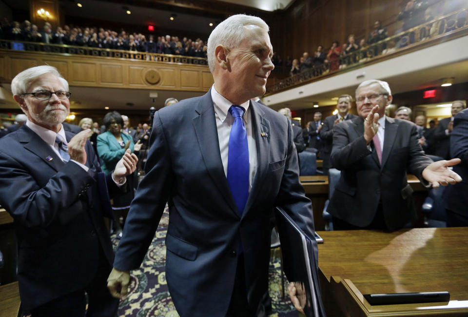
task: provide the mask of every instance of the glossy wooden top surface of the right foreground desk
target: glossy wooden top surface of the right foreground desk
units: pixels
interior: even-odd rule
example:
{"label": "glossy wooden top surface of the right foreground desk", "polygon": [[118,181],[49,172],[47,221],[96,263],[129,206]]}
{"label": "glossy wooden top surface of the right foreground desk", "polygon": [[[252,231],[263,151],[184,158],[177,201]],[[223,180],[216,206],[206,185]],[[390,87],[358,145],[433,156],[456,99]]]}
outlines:
{"label": "glossy wooden top surface of the right foreground desk", "polygon": [[[319,268],[328,282],[331,283],[331,277],[338,282],[349,279],[360,294],[448,291],[448,306],[464,306],[468,314],[468,228],[318,234],[325,240],[318,246]],[[363,301],[361,306],[370,307],[364,299],[356,300]],[[403,305],[389,306],[394,310]]]}

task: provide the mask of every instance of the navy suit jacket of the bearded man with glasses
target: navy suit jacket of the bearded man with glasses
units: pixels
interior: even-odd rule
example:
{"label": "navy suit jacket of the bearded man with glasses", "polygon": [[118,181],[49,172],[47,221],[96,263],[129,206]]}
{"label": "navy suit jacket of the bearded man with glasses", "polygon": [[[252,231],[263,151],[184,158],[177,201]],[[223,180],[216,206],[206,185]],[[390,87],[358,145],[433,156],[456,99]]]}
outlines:
{"label": "navy suit jacket of the bearded man with glasses", "polygon": [[[70,140],[73,134],[66,136]],[[26,125],[0,139],[0,204],[14,219],[25,310],[83,289],[98,268],[99,248],[113,261],[96,183],[100,168],[90,142],[86,152],[88,172],[63,163]]]}

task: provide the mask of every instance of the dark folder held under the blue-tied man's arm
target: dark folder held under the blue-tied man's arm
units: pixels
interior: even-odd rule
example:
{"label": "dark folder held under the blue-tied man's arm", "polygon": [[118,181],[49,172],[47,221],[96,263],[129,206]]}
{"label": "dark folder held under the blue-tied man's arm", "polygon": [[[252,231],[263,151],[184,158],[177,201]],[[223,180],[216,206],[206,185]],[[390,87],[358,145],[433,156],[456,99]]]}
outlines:
{"label": "dark folder held under the blue-tied man's arm", "polygon": [[304,231],[280,207],[276,207],[276,222],[283,270],[296,286],[298,298],[307,317],[324,317],[320,283],[318,280],[317,242]]}

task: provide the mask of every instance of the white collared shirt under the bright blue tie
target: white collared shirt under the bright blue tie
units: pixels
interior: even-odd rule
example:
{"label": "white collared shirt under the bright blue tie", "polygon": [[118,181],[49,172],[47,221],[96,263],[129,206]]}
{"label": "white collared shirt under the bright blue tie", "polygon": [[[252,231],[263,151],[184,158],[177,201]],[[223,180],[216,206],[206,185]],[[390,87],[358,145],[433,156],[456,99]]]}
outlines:
{"label": "white collared shirt under the bright blue tie", "polygon": [[[233,105],[231,101],[221,96],[213,85],[211,89],[211,98],[215,107],[216,130],[218,132],[219,152],[221,153],[221,161],[223,162],[224,175],[228,175],[228,152],[229,152],[229,135],[234,123],[234,117],[229,113],[229,108]],[[252,189],[252,184],[257,170],[257,149],[255,147],[255,138],[252,131],[252,113],[249,111],[250,100],[239,104],[245,109],[242,119],[244,120],[245,129],[247,132],[247,143],[249,147],[249,192]]]}

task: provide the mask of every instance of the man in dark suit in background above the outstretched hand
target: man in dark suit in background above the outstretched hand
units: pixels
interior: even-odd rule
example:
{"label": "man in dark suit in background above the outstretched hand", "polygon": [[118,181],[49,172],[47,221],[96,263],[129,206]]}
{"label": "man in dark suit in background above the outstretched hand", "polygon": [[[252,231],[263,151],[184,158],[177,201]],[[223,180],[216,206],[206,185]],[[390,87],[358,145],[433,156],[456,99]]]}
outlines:
{"label": "man in dark suit in background above the outstretched hand", "polygon": [[448,159],[450,157],[450,135],[453,129],[454,116],[465,109],[465,102],[456,100],[452,102],[450,109],[452,116],[439,121],[434,131],[435,155]]}

